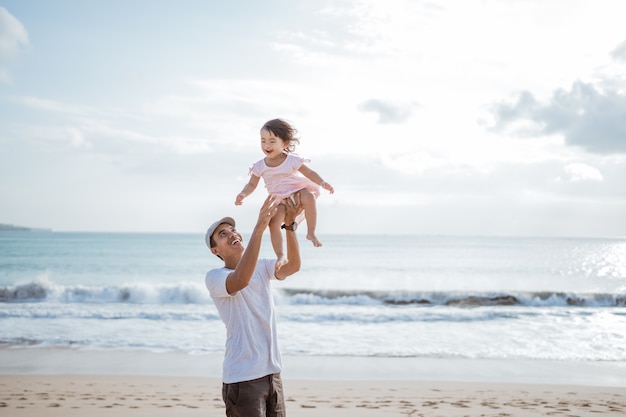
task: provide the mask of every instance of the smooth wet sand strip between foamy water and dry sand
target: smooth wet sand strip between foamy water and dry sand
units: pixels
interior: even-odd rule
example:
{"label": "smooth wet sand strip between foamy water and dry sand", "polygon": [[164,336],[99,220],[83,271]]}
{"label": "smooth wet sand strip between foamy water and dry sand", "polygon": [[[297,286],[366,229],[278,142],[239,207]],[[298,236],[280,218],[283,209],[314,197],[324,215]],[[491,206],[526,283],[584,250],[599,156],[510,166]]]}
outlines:
{"label": "smooth wet sand strip between foamy water and dry sand", "polygon": [[[2,347],[0,375],[137,375],[219,379],[222,352]],[[292,380],[458,381],[626,388],[626,362],[283,355]]]}

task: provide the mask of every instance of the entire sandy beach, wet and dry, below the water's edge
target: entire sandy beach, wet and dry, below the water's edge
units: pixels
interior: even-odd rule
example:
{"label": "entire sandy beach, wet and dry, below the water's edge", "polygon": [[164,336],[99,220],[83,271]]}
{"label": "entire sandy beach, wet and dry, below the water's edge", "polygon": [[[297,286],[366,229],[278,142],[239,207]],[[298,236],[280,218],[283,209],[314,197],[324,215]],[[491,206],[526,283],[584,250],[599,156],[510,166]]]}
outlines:
{"label": "entire sandy beach, wet and dry, below the water's edge", "polygon": [[[624,369],[614,366],[285,359],[292,417],[626,415]],[[221,416],[219,366],[218,355],[0,349],[0,414]]]}

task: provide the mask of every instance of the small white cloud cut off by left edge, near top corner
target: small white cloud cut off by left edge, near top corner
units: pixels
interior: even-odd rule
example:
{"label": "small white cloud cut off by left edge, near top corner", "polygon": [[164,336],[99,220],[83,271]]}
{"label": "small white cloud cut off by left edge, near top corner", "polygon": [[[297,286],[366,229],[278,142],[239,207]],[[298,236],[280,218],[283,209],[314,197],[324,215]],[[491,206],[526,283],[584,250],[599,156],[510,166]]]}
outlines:
{"label": "small white cloud cut off by left edge, near top corner", "polygon": [[9,83],[9,68],[28,46],[28,33],[22,23],[0,6],[0,83]]}

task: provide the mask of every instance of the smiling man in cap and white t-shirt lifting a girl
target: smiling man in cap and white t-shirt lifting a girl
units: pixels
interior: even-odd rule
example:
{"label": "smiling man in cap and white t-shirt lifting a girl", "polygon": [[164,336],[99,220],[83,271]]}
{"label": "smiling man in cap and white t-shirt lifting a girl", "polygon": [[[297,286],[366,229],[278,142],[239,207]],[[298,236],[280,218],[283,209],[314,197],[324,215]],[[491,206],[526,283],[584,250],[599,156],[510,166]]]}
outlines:
{"label": "smiling man in cap and white t-shirt lifting a girl", "polygon": [[224,261],[223,268],[207,272],[205,283],[226,325],[222,398],[228,417],[285,416],[270,280],[300,270],[295,218],[302,208],[299,195],[283,200],[289,261],[277,268],[276,259],[259,259],[259,251],[278,203],[272,196],[265,200],[246,248],[231,217],[213,223],[205,236],[211,253]]}

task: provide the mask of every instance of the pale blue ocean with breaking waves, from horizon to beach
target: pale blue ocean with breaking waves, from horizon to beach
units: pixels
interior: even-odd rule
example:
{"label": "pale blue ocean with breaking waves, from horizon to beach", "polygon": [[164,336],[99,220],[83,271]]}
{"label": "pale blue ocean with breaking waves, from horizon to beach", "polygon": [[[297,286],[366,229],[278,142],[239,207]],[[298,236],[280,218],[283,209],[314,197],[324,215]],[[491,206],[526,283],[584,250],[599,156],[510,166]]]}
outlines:
{"label": "pale blue ocean with breaking waves, from horizon to beach", "polygon": [[[626,362],[626,239],[320,239],[273,283],[283,356]],[[0,347],[223,352],[219,266],[202,234],[0,232]]]}

